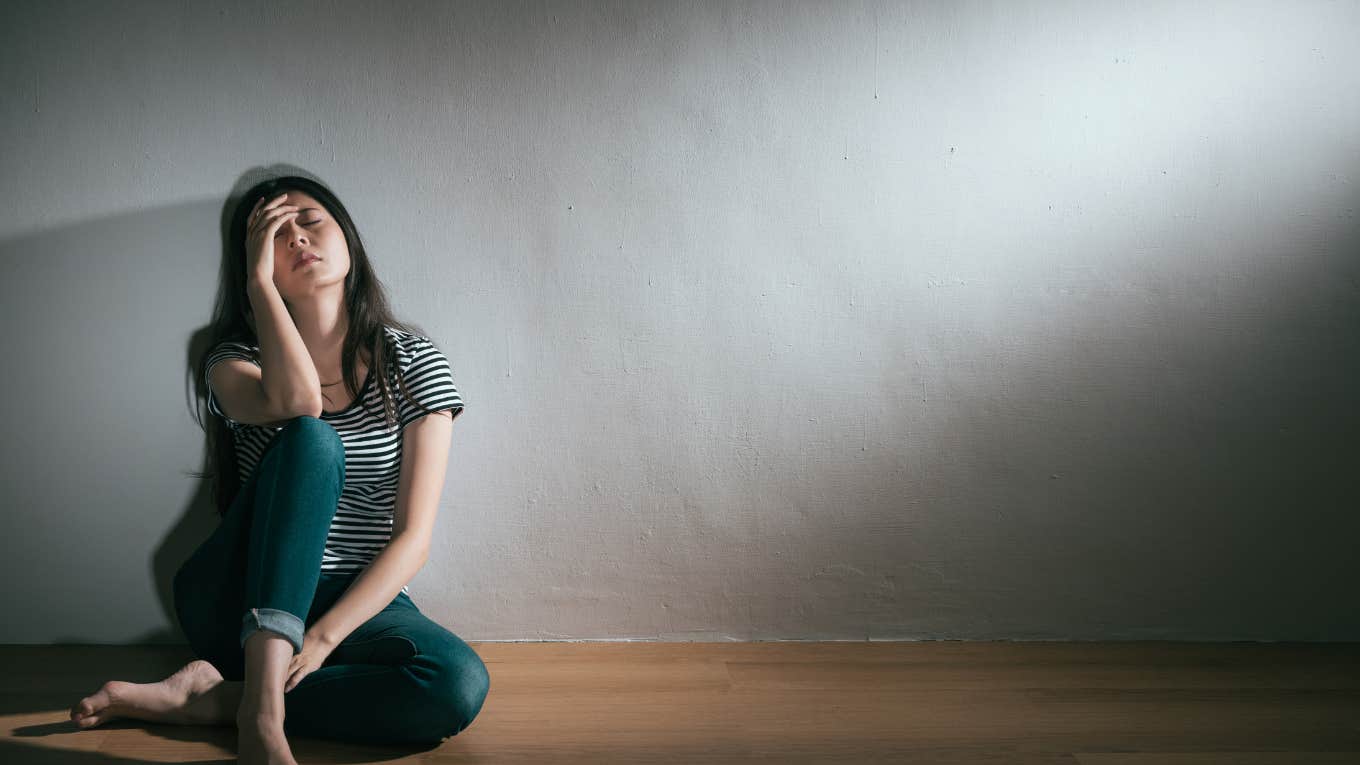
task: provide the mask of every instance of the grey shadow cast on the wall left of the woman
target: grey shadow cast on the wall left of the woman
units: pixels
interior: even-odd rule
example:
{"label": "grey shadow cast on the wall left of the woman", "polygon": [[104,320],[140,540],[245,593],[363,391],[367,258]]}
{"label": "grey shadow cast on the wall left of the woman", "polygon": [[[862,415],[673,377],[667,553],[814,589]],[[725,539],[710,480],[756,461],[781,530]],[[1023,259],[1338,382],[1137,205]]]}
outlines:
{"label": "grey shadow cast on the wall left of the woman", "polygon": [[[231,195],[262,176],[282,174],[307,173],[291,166],[252,170]],[[31,530],[4,543],[10,581],[22,581],[22,572],[44,570],[41,561],[64,550],[79,562],[71,565],[71,579],[52,583],[49,595],[63,602],[106,596],[107,583],[90,583],[101,573],[122,573],[120,547],[137,547],[133,538],[163,525],[165,495],[186,485],[192,493],[150,561],[163,611],[177,623],[174,574],[218,525],[211,482],[190,475],[209,470],[207,433],[197,423],[185,433],[180,419],[192,419],[196,406],[205,423],[212,417],[193,373],[211,342],[207,324],[192,333],[178,363],[167,363],[165,350],[184,342],[186,317],[211,314],[223,257],[223,242],[211,233],[224,227],[230,212],[222,200],[205,200],[0,244],[7,275],[0,283],[0,319],[27,328],[10,335],[8,355],[44,359],[44,374],[18,380],[16,395],[0,407],[11,422],[33,411],[50,412],[23,449],[3,446],[5,502],[14,502]],[[174,404],[175,380],[184,381],[178,397],[184,406]],[[189,455],[200,464],[185,464]],[[72,466],[79,466],[76,472]],[[75,538],[71,524],[80,528]],[[22,603],[26,596],[35,602]],[[12,607],[38,607],[41,593],[14,591],[10,600]],[[107,606],[87,603],[95,611]],[[88,636],[61,636],[54,642],[83,644]],[[132,638],[136,645],[184,642],[178,628]]]}

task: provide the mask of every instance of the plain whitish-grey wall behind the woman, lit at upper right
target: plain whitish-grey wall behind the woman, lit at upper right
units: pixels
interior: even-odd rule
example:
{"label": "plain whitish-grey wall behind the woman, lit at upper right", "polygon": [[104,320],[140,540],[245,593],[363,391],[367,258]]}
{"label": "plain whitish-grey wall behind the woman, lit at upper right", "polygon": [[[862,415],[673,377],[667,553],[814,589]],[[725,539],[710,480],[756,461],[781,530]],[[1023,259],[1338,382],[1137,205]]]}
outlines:
{"label": "plain whitish-grey wall behind the woman, lit at upper right", "polygon": [[5,4],[0,642],[182,642],[280,163],[453,363],[466,640],[1360,638],[1360,7],[1137,5]]}

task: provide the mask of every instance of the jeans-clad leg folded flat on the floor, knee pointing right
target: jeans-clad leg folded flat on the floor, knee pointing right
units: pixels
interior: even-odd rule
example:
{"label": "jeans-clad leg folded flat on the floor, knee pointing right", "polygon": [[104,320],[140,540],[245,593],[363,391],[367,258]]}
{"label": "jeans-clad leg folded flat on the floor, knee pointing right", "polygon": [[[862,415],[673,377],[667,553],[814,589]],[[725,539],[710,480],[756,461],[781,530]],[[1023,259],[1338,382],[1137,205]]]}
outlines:
{"label": "jeans-clad leg folded flat on the floor, knee pointing right", "polygon": [[284,694],[283,724],[351,743],[439,743],[472,724],[490,689],[472,647],[398,593]]}

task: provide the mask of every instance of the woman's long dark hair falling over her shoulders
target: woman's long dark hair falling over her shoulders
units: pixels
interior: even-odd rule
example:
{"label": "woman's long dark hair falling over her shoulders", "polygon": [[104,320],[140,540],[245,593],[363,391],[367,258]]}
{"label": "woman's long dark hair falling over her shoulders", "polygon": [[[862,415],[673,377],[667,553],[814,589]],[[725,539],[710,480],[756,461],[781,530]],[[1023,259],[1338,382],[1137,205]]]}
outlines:
{"label": "woman's long dark hair falling over her shoulders", "polygon": [[[388,304],[386,291],[382,282],[373,272],[369,255],[363,249],[363,240],[359,230],[350,218],[344,204],[320,181],[301,176],[284,176],[261,181],[242,193],[235,203],[230,223],[224,233],[226,249],[222,257],[222,276],[218,282],[218,298],[212,309],[212,323],[207,331],[207,346],[194,363],[193,376],[199,391],[197,400],[207,400],[207,361],[216,346],[226,340],[235,340],[249,346],[258,346],[256,335],[254,312],[250,306],[250,297],[246,293],[246,218],[260,199],[273,199],[283,192],[303,192],[326,208],[340,230],[344,231],[350,244],[350,274],[344,280],[344,306],[350,313],[350,329],[341,346],[341,376],[351,391],[359,391],[356,361],[360,351],[369,361],[369,376],[377,381],[382,392],[382,415],[388,426],[396,423],[396,397],[393,393],[393,380],[401,396],[413,403],[424,412],[426,408],[416,402],[407,389],[405,376],[397,363],[396,348],[388,342],[384,327],[392,327],[404,332],[424,336],[426,332],[409,323],[397,321]],[[362,397],[363,392],[358,395]],[[367,406],[360,402],[360,406]],[[208,472],[193,474],[197,478],[212,478],[212,494],[216,501],[218,515],[226,515],[241,489],[239,466],[237,464],[235,441],[227,423],[219,417],[208,417],[207,426],[201,410],[194,412],[200,427],[205,427],[208,434]]]}

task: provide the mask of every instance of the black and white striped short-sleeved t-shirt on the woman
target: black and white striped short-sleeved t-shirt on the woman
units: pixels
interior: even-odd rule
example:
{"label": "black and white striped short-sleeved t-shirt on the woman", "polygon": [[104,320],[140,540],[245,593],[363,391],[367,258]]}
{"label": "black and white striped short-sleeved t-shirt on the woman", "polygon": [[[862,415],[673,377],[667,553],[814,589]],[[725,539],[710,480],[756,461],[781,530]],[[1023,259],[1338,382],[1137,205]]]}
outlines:
{"label": "black and white striped short-sleeved t-shirt on the woman", "polygon": [[[452,417],[462,412],[462,397],[453,384],[449,359],[428,338],[412,335],[394,327],[384,327],[397,350],[397,363],[405,374],[407,389],[426,408],[449,410]],[[208,357],[204,374],[227,358],[242,358],[260,366],[260,346],[239,342],[219,343]],[[359,395],[337,412],[321,412],[340,434],[344,444],[344,489],[336,506],[330,531],[326,534],[321,558],[322,572],[359,572],[378,555],[392,539],[392,519],[397,501],[397,479],[401,471],[401,433],[412,421],[426,412],[401,395],[392,377],[396,397],[396,427],[389,429],[382,417],[382,391],[373,381],[373,370],[364,376]],[[237,470],[245,485],[260,463],[260,455],[283,430],[237,422],[218,406],[208,384],[208,411],[226,421],[237,449]],[[407,587],[401,588],[409,595]]]}

